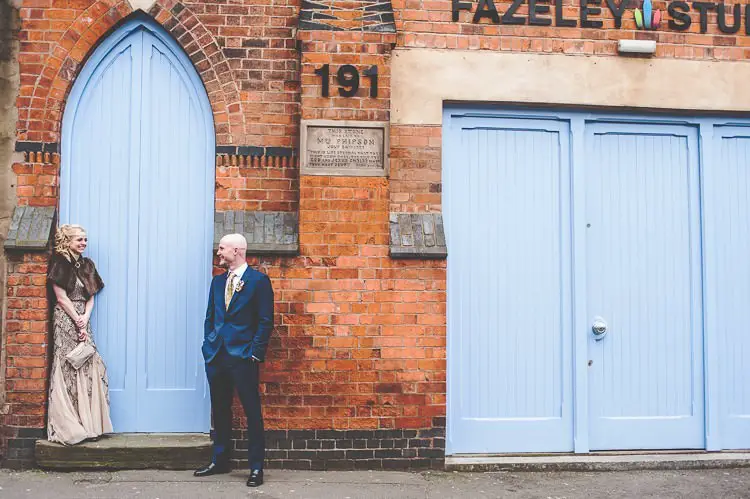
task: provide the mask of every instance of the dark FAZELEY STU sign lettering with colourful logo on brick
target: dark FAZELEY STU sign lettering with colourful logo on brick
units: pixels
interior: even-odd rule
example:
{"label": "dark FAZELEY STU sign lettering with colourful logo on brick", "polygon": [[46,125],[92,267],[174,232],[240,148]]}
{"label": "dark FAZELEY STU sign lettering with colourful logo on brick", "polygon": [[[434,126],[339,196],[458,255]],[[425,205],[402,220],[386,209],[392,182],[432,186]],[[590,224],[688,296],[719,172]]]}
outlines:
{"label": "dark FAZELEY STU sign lettering with colourful logo on brick", "polygon": [[[563,15],[563,0],[513,0],[513,3],[505,12],[498,12],[493,0],[478,0],[478,2],[464,2],[451,0],[453,10],[453,21],[459,20],[462,10],[473,12],[473,23],[480,23],[488,19],[494,24],[528,24],[531,26],[557,26],[565,28],[601,28],[604,23],[600,16],[602,14],[602,3],[612,13],[615,27],[622,27],[622,16],[629,5],[629,0],[578,0],[580,2],[580,15],[578,18],[565,17]],[[526,12],[519,12],[519,8],[525,5]],[[750,5],[740,4],[725,5],[715,2],[683,2],[676,0],[667,5],[666,18],[670,29],[686,31],[693,24],[691,13],[698,14],[700,32],[708,31],[709,13],[716,13],[716,22],[719,31],[733,34],[742,28],[742,19],[745,19],[744,33],[750,35]],[[712,16],[713,17],[713,16]],[[634,18],[639,28],[656,29],[661,22],[661,12],[653,11],[651,0],[644,0],[643,11],[634,10]]]}

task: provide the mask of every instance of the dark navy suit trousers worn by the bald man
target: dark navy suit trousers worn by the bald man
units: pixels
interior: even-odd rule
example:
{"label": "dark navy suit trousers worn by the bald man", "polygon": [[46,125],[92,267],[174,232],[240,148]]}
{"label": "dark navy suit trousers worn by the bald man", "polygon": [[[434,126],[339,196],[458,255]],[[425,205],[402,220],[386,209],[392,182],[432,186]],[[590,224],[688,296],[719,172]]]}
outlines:
{"label": "dark navy suit trousers worn by the bald man", "polygon": [[258,393],[260,365],[229,355],[222,345],[206,364],[214,420],[213,462],[228,463],[232,452],[232,398],[234,389],[247,417],[247,457],[252,470],[263,469],[266,442]]}

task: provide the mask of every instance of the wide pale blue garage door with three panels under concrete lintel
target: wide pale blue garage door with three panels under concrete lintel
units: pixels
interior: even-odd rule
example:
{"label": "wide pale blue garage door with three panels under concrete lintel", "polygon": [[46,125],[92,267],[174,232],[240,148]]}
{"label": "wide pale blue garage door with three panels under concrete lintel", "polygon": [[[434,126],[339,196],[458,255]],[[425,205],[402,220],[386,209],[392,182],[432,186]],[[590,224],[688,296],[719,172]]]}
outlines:
{"label": "wide pale blue garage door with three panels under concrete lintel", "polygon": [[444,119],[447,452],[748,446],[750,128]]}

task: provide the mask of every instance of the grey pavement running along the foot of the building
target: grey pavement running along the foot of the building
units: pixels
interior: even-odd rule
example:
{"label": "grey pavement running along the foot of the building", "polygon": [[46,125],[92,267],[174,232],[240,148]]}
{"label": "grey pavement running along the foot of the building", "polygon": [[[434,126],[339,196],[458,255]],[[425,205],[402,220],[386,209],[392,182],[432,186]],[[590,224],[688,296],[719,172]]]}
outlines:
{"label": "grey pavement running along the foot of the building", "polygon": [[194,478],[189,471],[44,472],[0,470],[0,498],[750,498],[750,468],[690,471],[487,472],[266,470]]}

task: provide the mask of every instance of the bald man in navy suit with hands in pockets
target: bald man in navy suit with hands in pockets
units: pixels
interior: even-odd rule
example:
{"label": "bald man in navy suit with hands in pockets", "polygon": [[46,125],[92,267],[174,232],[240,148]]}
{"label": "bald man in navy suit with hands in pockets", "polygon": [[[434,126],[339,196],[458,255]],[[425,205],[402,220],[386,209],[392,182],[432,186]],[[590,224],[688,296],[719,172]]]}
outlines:
{"label": "bald man in navy suit with hands in pockets", "polygon": [[194,475],[229,472],[236,388],[247,417],[247,486],[257,487],[263,483],[265,455],[258,374],[273,330],[273,288],[267,275],[248,267],[246,254],[247,241],[241,234],[221,239],[219,265],[228,270],[211,281],[203,339],[214,419],[213,453],[211,462]]}

